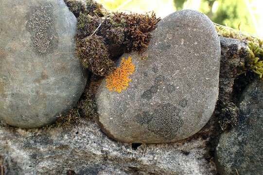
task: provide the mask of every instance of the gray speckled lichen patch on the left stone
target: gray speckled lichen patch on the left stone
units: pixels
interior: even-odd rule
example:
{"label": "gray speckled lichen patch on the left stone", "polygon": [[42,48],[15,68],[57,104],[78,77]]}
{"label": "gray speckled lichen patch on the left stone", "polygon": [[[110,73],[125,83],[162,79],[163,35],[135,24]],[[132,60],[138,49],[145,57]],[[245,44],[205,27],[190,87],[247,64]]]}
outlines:
{"label": "gray speckled lichen patch on the left stone", "polygon": [[53,6],[43,4],[31,7],[27,18],[27,31],[31,34],[31,42],[39,54],[52,53],[58,45],[53,20]]}

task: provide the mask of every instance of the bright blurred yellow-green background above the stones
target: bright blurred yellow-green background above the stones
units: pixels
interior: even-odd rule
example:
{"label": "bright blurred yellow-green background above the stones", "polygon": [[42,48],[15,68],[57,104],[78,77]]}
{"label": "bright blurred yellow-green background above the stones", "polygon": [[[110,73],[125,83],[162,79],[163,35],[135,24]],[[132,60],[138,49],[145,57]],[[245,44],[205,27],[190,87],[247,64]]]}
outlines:
{"label": "bright blurred yellow-green background above the stones", "polygon": [[[96,0],[111,11],[155,11],[164,18],[176,10],[193,9],[213,22],[263,37],[263,0]],[[240,25],[239,25],[240,24]],[[240,27],[239,27],[240,26]]]}

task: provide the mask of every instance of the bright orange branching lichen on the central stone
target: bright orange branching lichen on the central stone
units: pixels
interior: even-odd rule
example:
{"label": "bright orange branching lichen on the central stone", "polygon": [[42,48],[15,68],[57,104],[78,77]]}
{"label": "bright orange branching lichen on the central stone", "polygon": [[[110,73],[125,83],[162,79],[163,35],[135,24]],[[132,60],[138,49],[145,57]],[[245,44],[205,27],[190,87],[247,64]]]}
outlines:
{"label": "bright orange branching lichen on the central stone", "polygon": [[129,56],[125,60],[123,57],[120,67],[106,77],[106,88],[108,88],[109,91],[121,93],[122,90],[125,90],[129,86],[131,79],[128,78],[128,76],[131,75],[134,70],[135,66],[132,63],[132,58]]}

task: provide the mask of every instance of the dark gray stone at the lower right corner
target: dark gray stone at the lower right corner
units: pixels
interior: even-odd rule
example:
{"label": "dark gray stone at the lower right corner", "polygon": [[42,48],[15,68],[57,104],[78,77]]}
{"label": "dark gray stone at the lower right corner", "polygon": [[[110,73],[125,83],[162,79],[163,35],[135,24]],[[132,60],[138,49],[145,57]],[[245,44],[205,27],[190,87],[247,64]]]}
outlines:
{"label": "dark gray stone at the lower right corner", "polygon": [[263,82],[253,82],[242,94],[239,125],[221,135],[216,164],[221,175],[263,173]]}

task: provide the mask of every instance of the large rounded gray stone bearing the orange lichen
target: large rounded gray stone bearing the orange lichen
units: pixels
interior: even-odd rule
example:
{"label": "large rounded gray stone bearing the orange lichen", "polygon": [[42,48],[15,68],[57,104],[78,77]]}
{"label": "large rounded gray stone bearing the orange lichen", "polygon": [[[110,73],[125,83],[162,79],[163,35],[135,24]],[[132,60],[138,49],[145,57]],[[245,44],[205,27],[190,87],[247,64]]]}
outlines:
{"label": "large rounded gray stone bearing the orange lichen", "polygon": [[129,53],[129,87],[96,95],[102,130],[123,142],[161,143],[188,138],[210,119],[218,96],[220,42],[210,19],[182,10],[162,19],[147,51]]}

